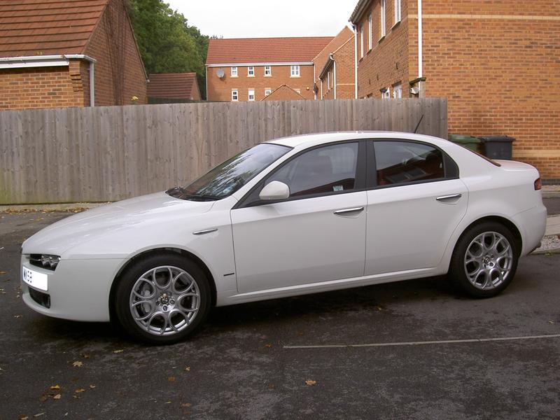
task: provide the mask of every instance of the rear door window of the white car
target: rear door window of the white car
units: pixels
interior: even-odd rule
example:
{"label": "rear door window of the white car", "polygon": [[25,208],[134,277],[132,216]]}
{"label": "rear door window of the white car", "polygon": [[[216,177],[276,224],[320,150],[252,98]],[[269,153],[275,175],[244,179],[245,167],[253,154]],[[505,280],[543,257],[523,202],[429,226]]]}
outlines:
{"label": "rear door window of the white car", "polygon": [[377,186],[444,179],[443,153],[412,141],[374,141]]}

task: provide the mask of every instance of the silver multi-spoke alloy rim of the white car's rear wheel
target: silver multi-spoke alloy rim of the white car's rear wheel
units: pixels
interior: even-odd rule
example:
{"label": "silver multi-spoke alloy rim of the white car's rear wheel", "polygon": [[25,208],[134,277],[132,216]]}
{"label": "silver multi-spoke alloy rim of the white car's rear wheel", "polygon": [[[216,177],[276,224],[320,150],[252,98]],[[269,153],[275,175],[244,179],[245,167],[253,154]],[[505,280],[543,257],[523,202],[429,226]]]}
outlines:
{"label": "silver multi-spoke alloy rim of the white car's rear wheel", "polygon": [[481,290],[500,286],[510,274],[513,250],[510,241],[498,232],[484,232],[472,239],[465,253],[468,281]]}

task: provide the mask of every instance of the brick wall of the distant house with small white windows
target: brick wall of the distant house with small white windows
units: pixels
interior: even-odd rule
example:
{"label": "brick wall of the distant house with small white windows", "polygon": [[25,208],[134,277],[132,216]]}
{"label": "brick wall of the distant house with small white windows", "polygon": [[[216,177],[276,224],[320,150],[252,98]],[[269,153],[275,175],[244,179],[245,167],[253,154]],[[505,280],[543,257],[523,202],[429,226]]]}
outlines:
{"label": "brick wall of the distant house with small white windows", "polygon": [[[216,72],[223,70],[225,76],[218,78]],[[272,66],[272,76],[265,76],[265,66],[255,66],[255,76],[247,76],[247,66],[237,66],[237,77],[231,77],[231,67],[207,67],[208,100],[230,101],[232,89],[239,92],[239,101],[248,100],[248,90],[255,90],[255,101],[265,97],[265,89],[274,90],[288,85],[299,90],[305,99],[313,99],[313,66],[300,65],[300,77],[290,77],[290,66]]]}

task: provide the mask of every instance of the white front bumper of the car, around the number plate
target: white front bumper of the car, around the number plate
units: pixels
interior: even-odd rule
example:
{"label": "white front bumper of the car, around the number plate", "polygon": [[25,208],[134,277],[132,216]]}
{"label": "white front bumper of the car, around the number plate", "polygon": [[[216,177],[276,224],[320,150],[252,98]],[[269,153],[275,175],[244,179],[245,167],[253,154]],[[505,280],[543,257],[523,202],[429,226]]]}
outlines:
{"label": "white front bumper of the car, around the number plate", "polygon": [[[61,260],[55,271],[29,264],[22,255],[21,265],[48,275],[48,290],[22,283],[22,298],[28,307],[40,314],[73,321],[109,321],[109,293],[113,279],[124,260]],[[23,269],[20,269],[20,275]],[[48,295],[49,307],[45,305]]]}

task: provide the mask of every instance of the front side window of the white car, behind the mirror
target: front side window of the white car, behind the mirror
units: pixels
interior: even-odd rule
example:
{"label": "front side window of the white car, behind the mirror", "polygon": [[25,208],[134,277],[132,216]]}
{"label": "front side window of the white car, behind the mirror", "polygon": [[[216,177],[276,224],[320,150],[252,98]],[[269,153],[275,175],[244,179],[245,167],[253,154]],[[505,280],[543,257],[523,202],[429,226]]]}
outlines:
{"label": "front side window of the white car, behind the mirror", "polygon": [[323,146],[290,160],[265,184],[281,181],[290,188],[290,197],[342,193],[356,188],[358,143]]}

